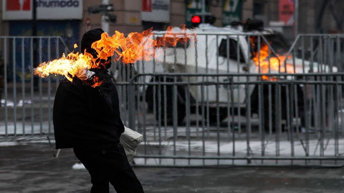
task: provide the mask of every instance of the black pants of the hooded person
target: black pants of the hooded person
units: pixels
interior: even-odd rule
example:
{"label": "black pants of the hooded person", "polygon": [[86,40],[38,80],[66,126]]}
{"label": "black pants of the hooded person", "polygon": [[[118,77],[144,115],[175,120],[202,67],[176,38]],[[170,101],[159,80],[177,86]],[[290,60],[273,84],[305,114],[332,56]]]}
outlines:
{"label": "black pants of the hooded person", "polygon": [[74,148],[74,154],[91,175],[91,193],[109,192],[109,182],[117,193],[143,192],[121,144],[103,151]]}

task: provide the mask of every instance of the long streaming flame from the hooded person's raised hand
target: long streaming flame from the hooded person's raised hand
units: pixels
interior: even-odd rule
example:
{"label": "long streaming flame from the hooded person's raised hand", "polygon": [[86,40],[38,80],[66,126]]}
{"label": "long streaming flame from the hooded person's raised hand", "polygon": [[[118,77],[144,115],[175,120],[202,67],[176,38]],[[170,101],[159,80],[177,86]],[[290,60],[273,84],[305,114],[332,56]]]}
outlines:
{"label": "long streaming flame from the hooded person's raised hand", "polygon": [[[185,25],[181,26],[178,32],[173,32],[173,28],[169,27],[163,36],[154,39],[152,29],[143,31],[142,33],[129,33],[127,37],[119,31],[109,36],[107,33],[101,34],[101,39],[92,44],[92,48],[96,50],[97,57],[84,53],[69,53],[59,59],[40,64],[34,69],[33,73],[41,77],[47,77],[49,74],[60,74],[65,76],[69,81],[73,81],[79,68],[100,68],[105,65],[101,59],[107,60],[108,57],[115,55],[115,60],[121,60],[123,63],[134,63],[136,61],[149,61],[159,56],[157,47],[175,46],[178,42],[186,43],[195,34],[186,33]],[[74,48],[77,47],[74,44]],[[104,66],[105,67],[105,66]],[[93,79],[93,86],[101,84],[99,79]]]}

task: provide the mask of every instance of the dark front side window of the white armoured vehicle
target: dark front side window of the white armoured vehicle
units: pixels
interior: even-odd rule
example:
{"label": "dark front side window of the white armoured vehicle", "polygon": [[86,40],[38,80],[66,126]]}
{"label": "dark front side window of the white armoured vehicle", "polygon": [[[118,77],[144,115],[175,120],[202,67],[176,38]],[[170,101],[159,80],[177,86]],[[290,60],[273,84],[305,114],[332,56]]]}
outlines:
{"label": "dark front side window of the white armoured vehicle", "polygon": [[[240,51],[240,62],[245,62],[244,55],[241,52],[240,47],[239,47],[239,51]],[[227,40],[226,39],[221,40],[220,47],[218,48],[218,55],[227,57]],[[233,39],[229,39],[229,58],[237,60],[237,56],[238,56],[237,41]]]}

